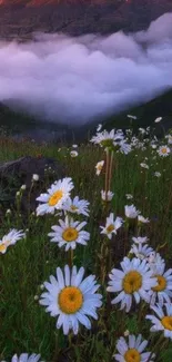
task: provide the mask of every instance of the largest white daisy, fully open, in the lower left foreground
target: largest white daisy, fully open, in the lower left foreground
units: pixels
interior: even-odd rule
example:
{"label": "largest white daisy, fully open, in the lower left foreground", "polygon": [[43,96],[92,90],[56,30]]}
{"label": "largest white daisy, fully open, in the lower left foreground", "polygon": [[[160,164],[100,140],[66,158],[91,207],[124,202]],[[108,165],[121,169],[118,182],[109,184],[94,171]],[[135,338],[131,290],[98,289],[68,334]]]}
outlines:
{"label": "largest white daisy, fully open, in the lower left foreground", "polygon": [[88,316],[98,320],[97,309],[102,305],[102,295],[95,293],[99,288],[95,276],[90,275],[83,280],[84,267],[77,266],[70,271],[64,266],[64,273],[57,268],[57,277],[50,276],[50,283],[45,282],[47,293],[41,294],[40,304],[47,306],[45,311],[52,316],[58,316],[57,329],[63,327],[68,334],[73,330],[79,332],[79,322],[87,329],[91,329]]}

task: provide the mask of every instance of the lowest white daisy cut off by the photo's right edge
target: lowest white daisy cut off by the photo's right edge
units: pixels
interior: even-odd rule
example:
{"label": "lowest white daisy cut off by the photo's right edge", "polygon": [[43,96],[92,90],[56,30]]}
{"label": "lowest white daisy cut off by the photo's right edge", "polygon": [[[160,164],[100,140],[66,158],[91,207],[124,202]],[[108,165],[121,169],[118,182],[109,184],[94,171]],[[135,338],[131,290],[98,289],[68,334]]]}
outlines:
{"label": "lowest white daisy cut off by the photo's right edge", "polygon": [[145,319],[152,322],[151,332],[163,331],[166,339],[172,340],[172,303],[165,303],[165,312],[161,305],[151,305],[151,310],[158,315],[146,315]]}

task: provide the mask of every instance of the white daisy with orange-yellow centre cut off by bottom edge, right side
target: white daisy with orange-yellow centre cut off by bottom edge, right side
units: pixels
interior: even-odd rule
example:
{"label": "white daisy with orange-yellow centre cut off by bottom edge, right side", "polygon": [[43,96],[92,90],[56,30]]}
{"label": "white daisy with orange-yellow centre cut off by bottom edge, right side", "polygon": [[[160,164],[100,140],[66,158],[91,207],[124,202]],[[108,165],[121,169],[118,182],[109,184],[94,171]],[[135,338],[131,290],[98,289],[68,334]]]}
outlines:
{"label": "white daisy with orange-yellow centre cut off by bottom edge, right side", "polygon": [[[143,352],[148,341],[142,340],[142,335],[129,334],[129,342],[121,336],[117,342],[117,350],[120,354],[114,354],[115,361],[119,362],[153,362],[155,355],[151,352]],[[143,353],[142,353],[143,352]],[[151,359],[150,359],[151,358]]]}

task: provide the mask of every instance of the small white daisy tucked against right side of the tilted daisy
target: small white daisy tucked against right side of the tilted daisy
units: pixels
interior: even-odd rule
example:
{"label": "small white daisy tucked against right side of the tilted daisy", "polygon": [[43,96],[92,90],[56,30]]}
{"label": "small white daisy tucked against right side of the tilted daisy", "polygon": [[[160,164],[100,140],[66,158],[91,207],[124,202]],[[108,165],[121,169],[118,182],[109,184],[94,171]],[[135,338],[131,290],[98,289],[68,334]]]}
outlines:
{"label": "small white daisy tucked against right side of the tilted daisy", "polygon": [[69,197],[63,205],[63,209],[72,214],[89,216],[89,202],[85,199],[79,199],[78,196],[75,196],[73,199]]}

